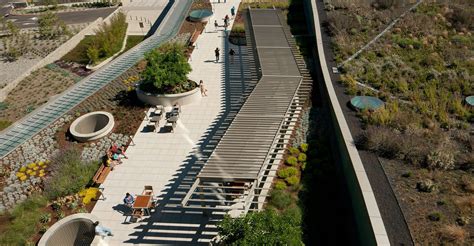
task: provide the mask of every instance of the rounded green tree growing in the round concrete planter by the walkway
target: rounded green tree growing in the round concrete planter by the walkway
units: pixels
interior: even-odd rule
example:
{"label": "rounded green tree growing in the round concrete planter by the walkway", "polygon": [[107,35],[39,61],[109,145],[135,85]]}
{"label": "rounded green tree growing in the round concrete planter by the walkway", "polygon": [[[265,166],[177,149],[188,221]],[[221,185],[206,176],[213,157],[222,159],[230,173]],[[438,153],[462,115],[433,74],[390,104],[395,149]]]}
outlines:
{"label": "rounded green tree growing in the round concrete planter by the walkway", "polygon": [[191,72],[184,47],[172,43],[145,55],[147,66],[142,73],[140,88],[147,92],[162,93],[187,81]]}

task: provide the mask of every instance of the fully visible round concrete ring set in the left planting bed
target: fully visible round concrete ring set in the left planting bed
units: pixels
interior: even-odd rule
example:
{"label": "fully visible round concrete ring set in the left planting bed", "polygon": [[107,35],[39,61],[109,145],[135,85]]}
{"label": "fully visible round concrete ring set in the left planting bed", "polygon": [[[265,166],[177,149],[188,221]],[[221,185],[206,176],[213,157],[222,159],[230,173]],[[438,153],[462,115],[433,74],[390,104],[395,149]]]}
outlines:
{"label": "fully visible round concrete ring set in the left planting bed", "polygon": [[114,116],[111,113],[96,111],[77,118],[69,127],[69,132],[77,141],[87,142],[109,134],[114,124]]}

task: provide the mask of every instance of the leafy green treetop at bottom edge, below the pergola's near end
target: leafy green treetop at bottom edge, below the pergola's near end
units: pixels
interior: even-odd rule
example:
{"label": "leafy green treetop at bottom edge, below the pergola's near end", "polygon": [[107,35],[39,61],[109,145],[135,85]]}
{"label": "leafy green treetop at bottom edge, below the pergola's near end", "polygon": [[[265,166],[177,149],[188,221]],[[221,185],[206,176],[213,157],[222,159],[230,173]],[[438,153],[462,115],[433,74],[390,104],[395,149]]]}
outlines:
{"label": "leafy green treetop at bottom edge, below the pergola's near end", "polygon": [[224,244],[229,245],[302,245],[301,212],[289,208],[281,215],[269,209],[232,219],[217,226]]}

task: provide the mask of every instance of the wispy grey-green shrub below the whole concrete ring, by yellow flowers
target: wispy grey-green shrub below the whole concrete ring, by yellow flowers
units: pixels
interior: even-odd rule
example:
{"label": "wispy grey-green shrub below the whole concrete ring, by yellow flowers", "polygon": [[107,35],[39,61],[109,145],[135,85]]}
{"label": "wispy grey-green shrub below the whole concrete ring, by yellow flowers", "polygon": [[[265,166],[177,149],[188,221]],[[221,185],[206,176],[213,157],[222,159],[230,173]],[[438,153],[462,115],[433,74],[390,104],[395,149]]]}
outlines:
{"label": "wispy grey-green shrub below the whole concrete ring, by yellow flowers", "polygon": [[52,177],[45,182],[45,194],[51,200],[83,189],[97,171],[97,162],[83,162],[81,152],[67,148],[51,162]]}

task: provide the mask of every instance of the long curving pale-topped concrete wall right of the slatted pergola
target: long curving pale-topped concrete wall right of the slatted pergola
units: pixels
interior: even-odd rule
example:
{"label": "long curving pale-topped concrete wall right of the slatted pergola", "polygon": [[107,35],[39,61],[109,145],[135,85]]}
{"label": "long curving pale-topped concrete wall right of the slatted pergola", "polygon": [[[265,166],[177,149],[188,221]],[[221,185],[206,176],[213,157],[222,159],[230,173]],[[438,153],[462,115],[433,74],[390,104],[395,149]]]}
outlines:
{"label": "long curving pale-topped concrete wall right of the slatted pergola", "polygon": [[305,9],[308,11],[307,16],[309,19],[312,17],[312,20],[308,20],[308,22],[316,36],[316,59],[320,63],[320,66],[316,67],[318,81],[322,82],[320,83],[321,94],[325,101],[328,102],[335,137],[334,147],[338,152],[337,155],[340,165],[342,165],[345,183],[348,186],[347,190],[350,193],[359,241],[361,245],[390,245],[367,173],[354,145],[354,139],[329,75],[316,1],[306,0]]}

